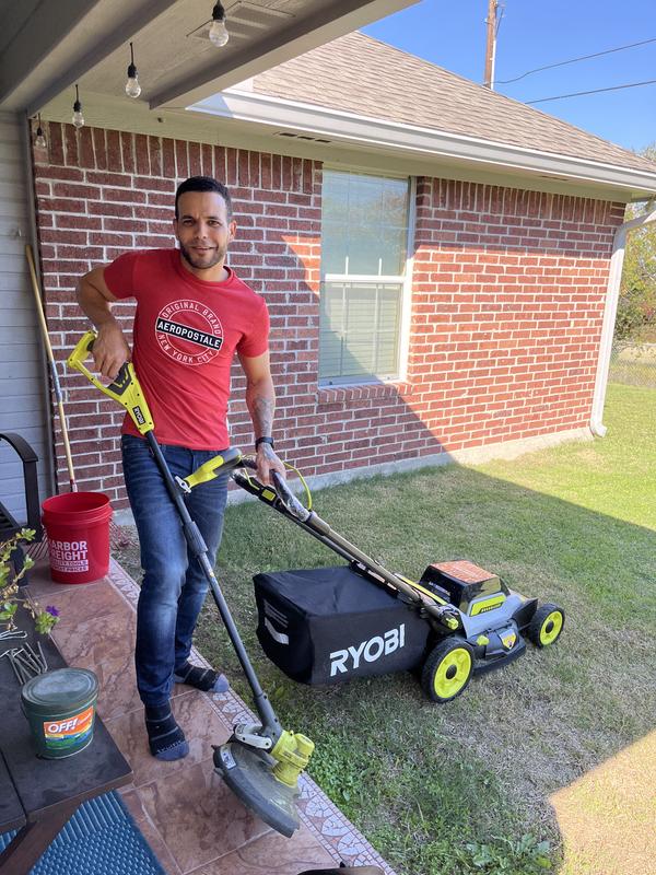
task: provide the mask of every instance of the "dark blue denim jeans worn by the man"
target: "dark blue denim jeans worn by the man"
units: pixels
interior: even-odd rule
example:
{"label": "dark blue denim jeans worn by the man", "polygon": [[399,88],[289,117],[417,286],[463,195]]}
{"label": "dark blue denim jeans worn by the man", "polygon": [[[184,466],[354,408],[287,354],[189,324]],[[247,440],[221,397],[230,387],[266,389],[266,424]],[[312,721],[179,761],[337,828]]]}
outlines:
{"label": "dark blue denim jeans worn by the man", "polygon": [[[189,656],[209,583],[187,548],[178,512],[148,443],[121,438],[124,475],[139,533],[143,580],[137,606],[137,686],[147,705],[168,702],[173,675]],[[187,477],[220,450],[162,445],[175,477]],[[230,474],[194,488],[185,503],[208,546],[212,565],[221,544]]]}

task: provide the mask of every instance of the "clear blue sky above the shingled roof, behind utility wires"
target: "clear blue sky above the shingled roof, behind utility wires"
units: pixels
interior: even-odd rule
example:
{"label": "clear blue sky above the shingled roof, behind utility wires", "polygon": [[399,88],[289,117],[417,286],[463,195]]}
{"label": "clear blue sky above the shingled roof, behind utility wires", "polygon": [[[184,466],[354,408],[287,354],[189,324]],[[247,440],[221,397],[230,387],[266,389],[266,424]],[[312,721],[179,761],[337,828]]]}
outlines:
{"label": "clear blue sky above the shingled roof, behind utility wires", "polygon": [[[655,0],[502,0],[496,80],[656,38]],[[482,82],[488,0],[422,0],[364,28],[384,43]],[[656,79],[656,42],[496,86],[527,102]],[[537,109],[640,150],[656,141],[656,84],[552,101]]]}

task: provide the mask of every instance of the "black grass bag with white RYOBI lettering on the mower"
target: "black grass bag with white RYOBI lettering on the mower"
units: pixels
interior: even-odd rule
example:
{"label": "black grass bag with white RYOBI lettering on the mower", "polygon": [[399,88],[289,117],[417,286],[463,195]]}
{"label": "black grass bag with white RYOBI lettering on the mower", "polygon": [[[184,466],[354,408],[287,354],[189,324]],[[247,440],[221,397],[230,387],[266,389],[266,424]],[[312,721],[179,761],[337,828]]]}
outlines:
{"label": "black grass bag with white RYOBI lettering on the mower", "polygon": [[398,594],[348,565],[256,574],[257,637],[288,677],[312,686],[417,667],[430,627]]}

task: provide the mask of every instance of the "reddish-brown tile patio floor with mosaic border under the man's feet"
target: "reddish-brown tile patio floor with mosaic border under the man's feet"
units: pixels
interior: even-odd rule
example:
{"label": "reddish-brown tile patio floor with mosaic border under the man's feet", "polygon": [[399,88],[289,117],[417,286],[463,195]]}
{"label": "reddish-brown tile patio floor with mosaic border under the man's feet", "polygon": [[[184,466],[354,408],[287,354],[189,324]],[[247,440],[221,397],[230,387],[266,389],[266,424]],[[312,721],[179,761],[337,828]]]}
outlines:
{"label": "reddish-brown tile patio floor with mosaic border under the man's feet", "polygon": [[[97,583],[55,584],[44,562],[30,579],[31,596],[61,611],[52,638],[69,665],[91,668],[98,677],[98,714],[134,773],[121,795],[166,872],[297,875],[341,859],[394,875],[307,775],[301,780],[302,827],[292,839],[271,830],[227,790],[214,773],[212,745],[229,738],[234,722],[253,720],[232,691],[208,696],[176,685],[173,710],[189,756],[177,762],[151,757],[132,665],[138,593],[115,561]],[[192,660],[207,664],[199,654]]]}

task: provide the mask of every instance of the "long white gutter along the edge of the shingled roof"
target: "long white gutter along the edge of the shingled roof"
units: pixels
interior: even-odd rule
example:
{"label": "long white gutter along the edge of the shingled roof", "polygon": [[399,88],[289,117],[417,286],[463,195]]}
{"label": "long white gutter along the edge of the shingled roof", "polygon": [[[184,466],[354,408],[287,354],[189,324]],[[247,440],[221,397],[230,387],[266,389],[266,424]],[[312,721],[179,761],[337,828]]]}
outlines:
{"label": "long white gutter along the edge of the shingled roof", "polygon": [[353,115],[236,88],[187,108],[194,114],[258,125],[269,132],[297,132],[374,151],[432,156],[454,166],[468,165],[470,168],[609,189],[616,194],[622,191],[626,200],[641,200],[656,192],[656,174],[653,173]]}

